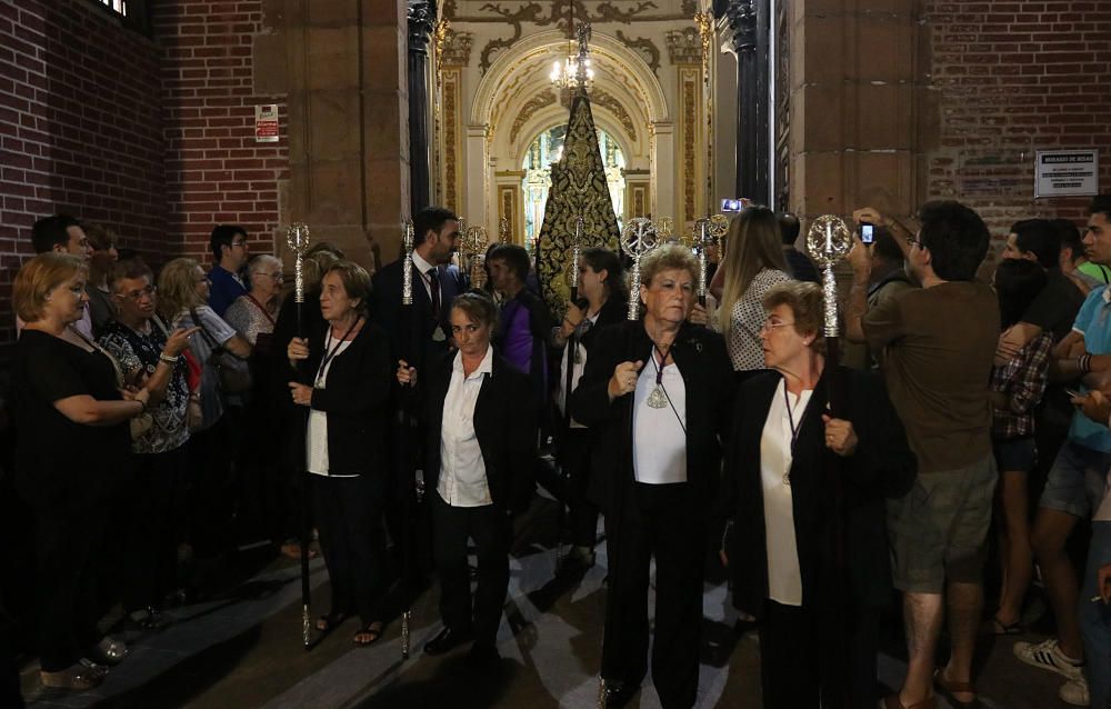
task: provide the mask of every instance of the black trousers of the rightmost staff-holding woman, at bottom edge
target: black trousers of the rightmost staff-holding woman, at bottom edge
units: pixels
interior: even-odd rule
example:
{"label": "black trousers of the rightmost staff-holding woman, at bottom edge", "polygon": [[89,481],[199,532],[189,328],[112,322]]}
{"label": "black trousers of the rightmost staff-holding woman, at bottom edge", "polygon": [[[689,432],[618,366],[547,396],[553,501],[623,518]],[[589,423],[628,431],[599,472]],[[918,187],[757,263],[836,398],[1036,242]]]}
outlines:
{"label": "black trousers of the rightmost staff-holding woman, at bottom edge", "polygon": [[805,607],[767,600],[760,626],[764,709],[875,707],[879,616],[860,613],[845,623],[842,613],[822,620]]}

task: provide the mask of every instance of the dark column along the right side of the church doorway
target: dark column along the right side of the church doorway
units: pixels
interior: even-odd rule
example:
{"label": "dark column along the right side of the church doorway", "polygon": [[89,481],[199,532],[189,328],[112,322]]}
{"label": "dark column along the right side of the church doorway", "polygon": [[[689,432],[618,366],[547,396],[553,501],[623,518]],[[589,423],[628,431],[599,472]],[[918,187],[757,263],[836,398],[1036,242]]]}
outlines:
{"label": "dark column along the right side of the church doorway", "polygon": [[767,204],[768,146],[768,0],[732,0],[719,8],[733,31],[737,53],[737,196]]}

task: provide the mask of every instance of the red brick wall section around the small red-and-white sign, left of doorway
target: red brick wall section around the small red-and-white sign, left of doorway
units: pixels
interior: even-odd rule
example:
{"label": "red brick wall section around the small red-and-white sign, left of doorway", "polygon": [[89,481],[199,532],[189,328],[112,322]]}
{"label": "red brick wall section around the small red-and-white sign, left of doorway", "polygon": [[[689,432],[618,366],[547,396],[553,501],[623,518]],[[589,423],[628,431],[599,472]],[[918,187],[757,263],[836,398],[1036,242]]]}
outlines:
{"label": "red brick wall section around the small red-and-white sign, left of doorway", "polygon": [[[252,251],[273,252],[279,183],[289,172],[284,96],[254,89],[253,42],[267,32],[262,0],[159,3],[169,236],[211,261],[216,223],[247,228]],[[278,103],[280,141],[254,140],[254,106]]]}

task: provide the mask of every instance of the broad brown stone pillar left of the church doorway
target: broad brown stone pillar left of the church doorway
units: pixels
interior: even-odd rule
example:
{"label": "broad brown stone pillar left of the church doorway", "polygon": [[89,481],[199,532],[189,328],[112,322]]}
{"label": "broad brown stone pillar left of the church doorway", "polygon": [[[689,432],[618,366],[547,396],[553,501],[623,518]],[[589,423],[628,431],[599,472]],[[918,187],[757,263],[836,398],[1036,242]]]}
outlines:
{"label": "broad brown stone pillar left of the church doorway", "polygon": [[[276,0],[278,1],[278,0]],[[283,0],[290,186],[283,213],[373,266],[409,216],[408,23],[397,0]]]}

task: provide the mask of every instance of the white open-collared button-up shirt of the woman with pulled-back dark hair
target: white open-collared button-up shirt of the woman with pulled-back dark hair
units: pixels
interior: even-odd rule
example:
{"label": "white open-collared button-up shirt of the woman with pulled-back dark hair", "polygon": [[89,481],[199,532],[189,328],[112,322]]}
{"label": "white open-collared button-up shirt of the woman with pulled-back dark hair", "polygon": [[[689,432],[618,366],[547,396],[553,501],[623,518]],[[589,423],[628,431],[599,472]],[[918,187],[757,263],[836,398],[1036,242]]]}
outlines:
{"label": "white open-collared button-up shirt of the woman with pulled-back dark hair", "polygon": [[463,353],[456,353],[451,383],[443,399],[443,425],[440,427],[440,483],[437,492],[452,507],[492,505],[486,461],[474,435],[474,405],[482,382],[493,372],[493,348],[487,349],[478,369],[463,376]]}

